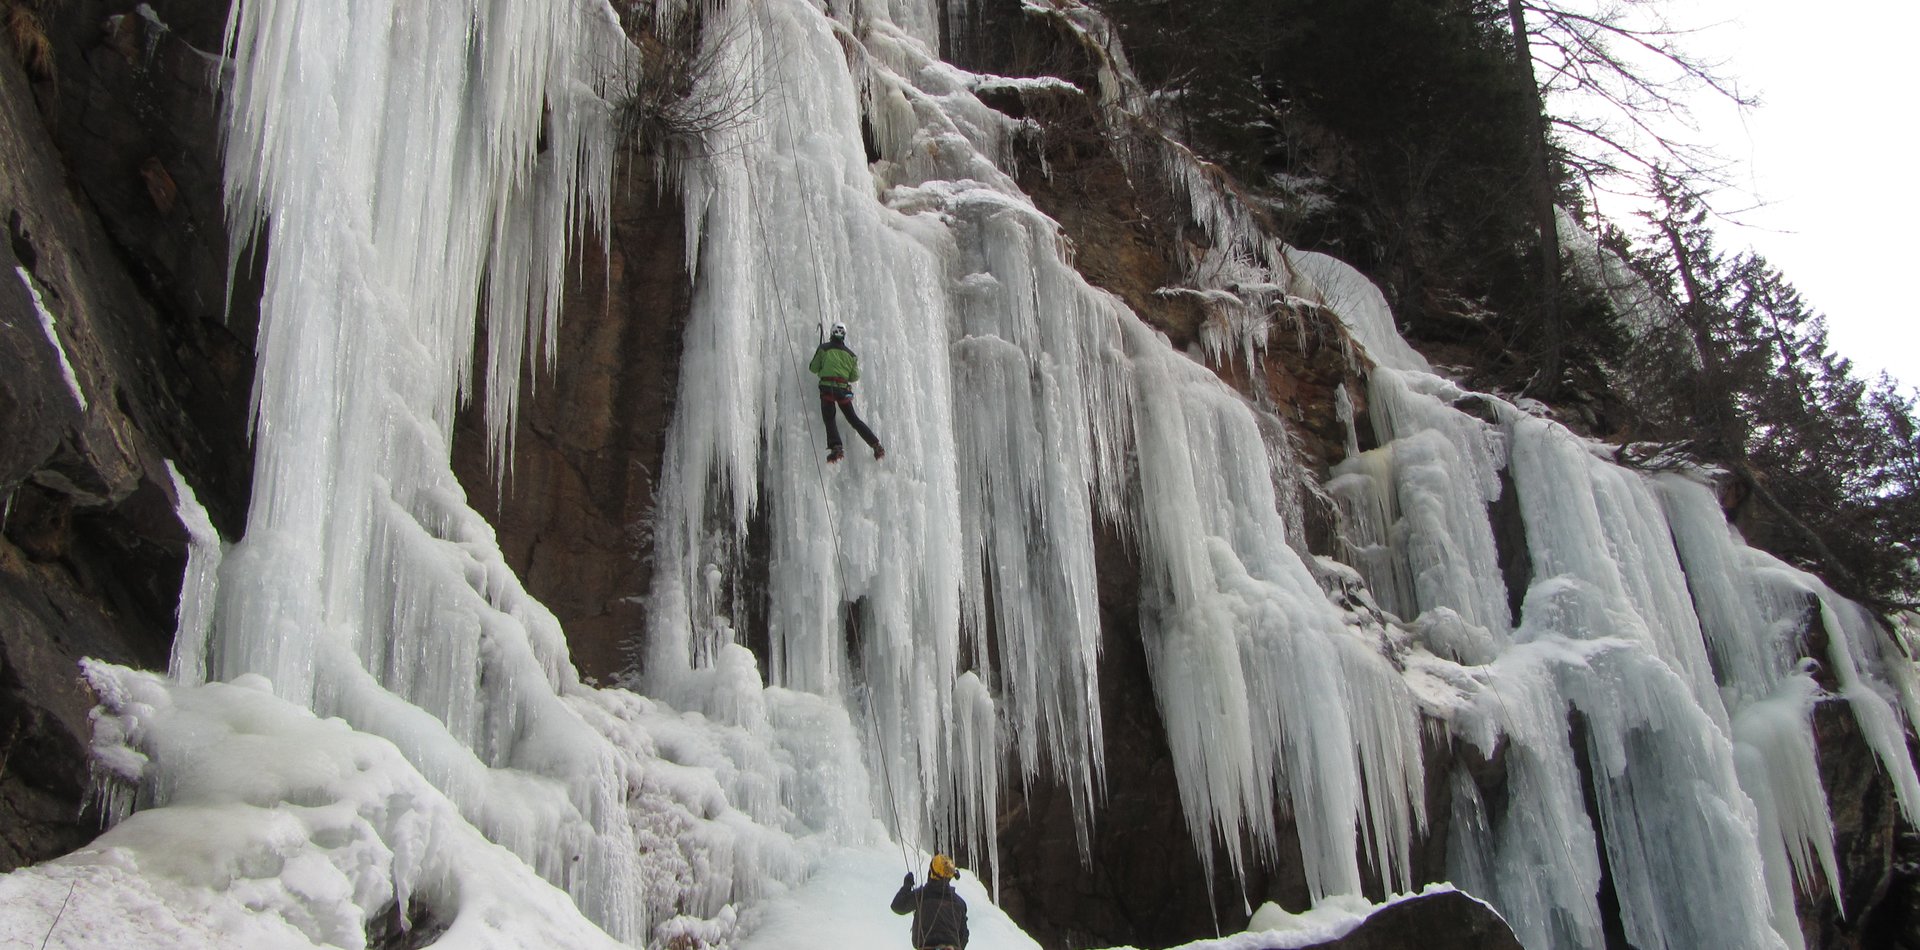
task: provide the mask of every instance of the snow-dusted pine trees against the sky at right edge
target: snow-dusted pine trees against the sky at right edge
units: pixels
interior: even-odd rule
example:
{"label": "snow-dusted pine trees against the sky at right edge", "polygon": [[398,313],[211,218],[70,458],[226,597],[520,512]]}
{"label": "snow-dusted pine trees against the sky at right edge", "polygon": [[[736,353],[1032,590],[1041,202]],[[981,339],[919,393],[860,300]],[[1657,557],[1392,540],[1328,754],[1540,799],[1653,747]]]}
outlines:
{"label": "snow-dusted pine trees against the sky at right edge", "polygon": [[1715,246],[1699,196],[1672,178],[1638,255],[1674,321],[1620,361],[1642,422],[1741,476],[1766,516],[1753,537],[1882,606],[1920,601],[1920,441],[1912,399],[1832,351],[1826,321],[1755,253]]}

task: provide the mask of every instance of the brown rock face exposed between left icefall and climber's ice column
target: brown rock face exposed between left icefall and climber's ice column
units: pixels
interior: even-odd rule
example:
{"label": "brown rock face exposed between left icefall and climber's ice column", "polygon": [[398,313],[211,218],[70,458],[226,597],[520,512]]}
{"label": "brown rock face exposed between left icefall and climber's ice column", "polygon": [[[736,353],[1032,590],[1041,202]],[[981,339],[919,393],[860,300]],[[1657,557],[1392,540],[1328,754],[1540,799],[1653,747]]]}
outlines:
{"label": "brown rock face exposed between left icefall and climber's ice column", "polygon": [[582,676],[611,681],[645,620],[647,512],[680,386],[691,282],[682,213],[643,173],[612,207],[611,253],[584,242],[555,370],[526,382],[513,459],[488,459],[478,409],[463,413],[455,472],[499,532],[501,553],[566,629]]}

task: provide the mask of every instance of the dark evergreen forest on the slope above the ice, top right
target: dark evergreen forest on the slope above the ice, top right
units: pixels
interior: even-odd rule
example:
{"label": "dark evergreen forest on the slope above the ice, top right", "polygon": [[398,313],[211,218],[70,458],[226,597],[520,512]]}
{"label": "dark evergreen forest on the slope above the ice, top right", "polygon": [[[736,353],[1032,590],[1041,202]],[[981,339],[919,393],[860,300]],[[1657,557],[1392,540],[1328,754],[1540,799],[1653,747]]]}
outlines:
{"label": "dark evergreen forest on the slope above the ice, top right", "polygon": [[[1430,357],[1640,464],[1728,470],[1749,541],[1882,610],[1920,605],[1914,392],[1866,378],[1788,274],[1718,238],[1726,165],[1663,119],[1753,102],[1665,25],[1670,4],[1104,6],[1185,138],[1290,244],[1367,271]],[[1563,111],[1576,96],[1615,119]],[[1636,211],[1599,217],[1603,194]],[[1569,225],[1626,267],[1582,267]]]}

